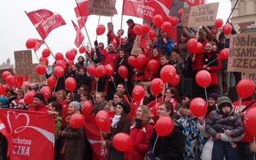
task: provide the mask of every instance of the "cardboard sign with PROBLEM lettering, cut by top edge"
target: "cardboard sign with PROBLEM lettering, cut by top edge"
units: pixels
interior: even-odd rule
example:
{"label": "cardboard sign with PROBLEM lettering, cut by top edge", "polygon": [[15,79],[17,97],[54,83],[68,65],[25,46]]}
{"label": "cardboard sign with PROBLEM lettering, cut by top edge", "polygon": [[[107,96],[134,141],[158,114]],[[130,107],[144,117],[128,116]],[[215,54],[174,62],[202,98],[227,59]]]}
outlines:
{"label": "cardboard sign with PROBLEM lettering, cut by top edge", "polygon": [[115,13],[116,0],[90,0],[87,12],[92,15],[103,15],[113,17]]}

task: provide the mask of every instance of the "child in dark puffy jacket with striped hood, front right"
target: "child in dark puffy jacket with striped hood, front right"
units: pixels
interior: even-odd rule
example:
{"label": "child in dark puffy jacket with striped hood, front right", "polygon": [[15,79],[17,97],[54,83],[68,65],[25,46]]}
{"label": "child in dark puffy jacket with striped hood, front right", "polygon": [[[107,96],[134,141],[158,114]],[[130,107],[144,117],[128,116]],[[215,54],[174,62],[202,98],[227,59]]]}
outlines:
{"label": "child in dark puffy jacket with striped hood, front right", "polygon": [[217,100],[217,109],[209,114],[205,122],[206,131],[214,137],[212,159],[239,159],[239,148],[236,142],[221,141],[221,134],[238,137],[244,133],[244,125],[238,113],[234,112],[234,106],[228,97],[220,97]]}

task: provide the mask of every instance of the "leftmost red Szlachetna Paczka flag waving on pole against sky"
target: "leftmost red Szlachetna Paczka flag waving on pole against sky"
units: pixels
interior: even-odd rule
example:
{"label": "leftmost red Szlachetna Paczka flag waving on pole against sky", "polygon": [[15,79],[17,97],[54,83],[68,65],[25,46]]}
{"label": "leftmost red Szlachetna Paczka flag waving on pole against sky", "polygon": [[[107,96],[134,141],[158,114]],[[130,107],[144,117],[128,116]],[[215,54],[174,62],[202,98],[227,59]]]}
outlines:
{"label": "leftmost red Szlachetna Paczka flag waving on pole against sky", "polygon": [[53,29],[66,24],[61,15],[49,10],[36,10],[26,14],[43,40]]}

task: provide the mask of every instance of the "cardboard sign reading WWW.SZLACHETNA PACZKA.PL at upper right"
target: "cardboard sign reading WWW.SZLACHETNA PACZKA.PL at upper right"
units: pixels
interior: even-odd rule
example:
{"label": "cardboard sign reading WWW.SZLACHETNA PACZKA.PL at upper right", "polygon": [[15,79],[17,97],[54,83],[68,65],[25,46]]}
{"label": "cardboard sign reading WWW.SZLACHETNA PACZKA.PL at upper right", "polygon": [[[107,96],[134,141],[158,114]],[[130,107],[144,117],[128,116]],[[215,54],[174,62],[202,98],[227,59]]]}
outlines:
{"label": "cardboard sign reading WWW.SZLACHETNA PACZKA.PL at upper right", "polygon": [[218,7],[219,3],[192,6],[189,13],[188,27],[214,26]]}

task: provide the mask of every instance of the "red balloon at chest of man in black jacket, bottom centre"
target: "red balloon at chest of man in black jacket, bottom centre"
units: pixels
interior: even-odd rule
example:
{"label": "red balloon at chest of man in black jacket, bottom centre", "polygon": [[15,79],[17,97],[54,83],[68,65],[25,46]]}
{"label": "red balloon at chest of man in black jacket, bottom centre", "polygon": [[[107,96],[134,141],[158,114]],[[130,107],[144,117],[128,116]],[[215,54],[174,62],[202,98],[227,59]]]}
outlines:
{"label": "red balloon at chest of man in black jacket, bottom centre", "polygon": [[159,136],[167,136],[173,130],[173,120],[168,116],[163,116],[157,120],[155,127]]}

